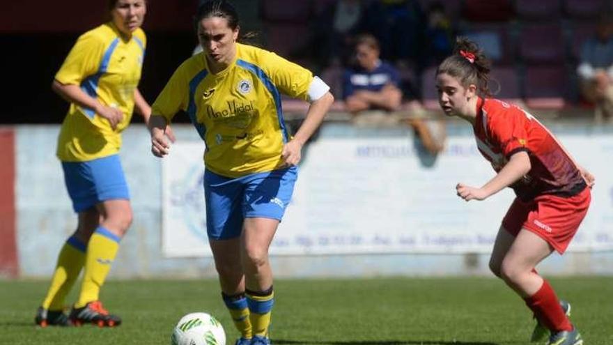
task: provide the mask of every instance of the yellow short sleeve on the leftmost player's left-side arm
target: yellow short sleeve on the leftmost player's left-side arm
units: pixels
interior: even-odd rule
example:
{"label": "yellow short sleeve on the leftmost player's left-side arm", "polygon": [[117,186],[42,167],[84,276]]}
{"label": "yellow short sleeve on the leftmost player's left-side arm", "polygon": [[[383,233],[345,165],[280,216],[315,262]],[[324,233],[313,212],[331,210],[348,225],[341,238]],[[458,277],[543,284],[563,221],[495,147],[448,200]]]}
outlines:
{"label": "yellow short sleeve on the leftmost player's left-side arm", "polygon": [[62,84],[80,85],[83,79],[95,74],[104,54],[104,40],[92,33],[84,33],[70,49],[55,79]]}

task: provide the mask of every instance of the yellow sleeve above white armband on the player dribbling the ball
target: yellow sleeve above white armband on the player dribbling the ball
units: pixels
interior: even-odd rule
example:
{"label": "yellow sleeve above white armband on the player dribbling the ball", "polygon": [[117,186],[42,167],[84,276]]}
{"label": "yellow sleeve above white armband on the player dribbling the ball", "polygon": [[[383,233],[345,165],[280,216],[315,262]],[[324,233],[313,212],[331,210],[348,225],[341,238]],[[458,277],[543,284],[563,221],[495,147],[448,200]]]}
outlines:
{"label": "yellow sleeve above white armband on the player dribbling the ball", "polygon": [[308,100],[309,86],[313,82],[313,73],[310,70],[287,61],[273,52],[266,52],[264,59],[265,71],[281,93]]}

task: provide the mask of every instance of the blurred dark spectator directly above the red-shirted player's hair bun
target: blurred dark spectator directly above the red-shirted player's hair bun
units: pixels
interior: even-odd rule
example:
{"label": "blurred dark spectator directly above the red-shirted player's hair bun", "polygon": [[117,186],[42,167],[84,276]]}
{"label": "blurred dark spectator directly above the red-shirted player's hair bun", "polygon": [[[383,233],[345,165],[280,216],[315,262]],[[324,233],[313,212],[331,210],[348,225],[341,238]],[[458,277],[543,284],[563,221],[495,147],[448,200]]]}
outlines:
{"label": "blurred dark spectator directly above the red-shirted player's hair bun", "polygon": [[445,13],[441,1],[430,3],[427,11],[426,56],[424,61],[428,65],[441,63],[453,51],[455,34],[451,19]]}

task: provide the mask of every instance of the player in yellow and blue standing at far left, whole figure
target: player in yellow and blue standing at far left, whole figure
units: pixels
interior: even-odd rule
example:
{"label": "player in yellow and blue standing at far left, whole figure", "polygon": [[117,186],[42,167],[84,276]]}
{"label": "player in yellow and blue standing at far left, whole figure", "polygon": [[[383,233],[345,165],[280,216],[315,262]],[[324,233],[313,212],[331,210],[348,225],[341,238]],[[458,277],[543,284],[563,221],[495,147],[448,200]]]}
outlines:
{"label": "player in yellow and blue standing at far left, whole figure", "polygon": [[[52,84],[70,102],[57,156],[79,224],[61,249],[51,286],[36,314],[41,326],[121,323],[102,307],[99,293],[132,222],[118,156],[121,132],[134,107],[145,121],[151,111],[137,89],[146,46],[140,29],[146,1],[110,0],[109,12],[109,22],[79,37]],[[64,299],[82,268],[79,298],[66,316]]]}

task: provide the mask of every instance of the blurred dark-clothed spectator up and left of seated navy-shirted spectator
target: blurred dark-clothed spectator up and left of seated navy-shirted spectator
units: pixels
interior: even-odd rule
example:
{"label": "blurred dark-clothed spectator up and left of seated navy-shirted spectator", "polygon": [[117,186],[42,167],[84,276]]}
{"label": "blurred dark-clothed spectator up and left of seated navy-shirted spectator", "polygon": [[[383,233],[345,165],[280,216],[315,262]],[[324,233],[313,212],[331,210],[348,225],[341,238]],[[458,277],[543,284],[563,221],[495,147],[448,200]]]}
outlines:
{"label": "blurred dark-clothed spectator up and left of seated navy-shirted spectator", "polygon": [[319,68],[341,66],[351,54],[352,38],[359,31],[364,13],[362,0],[330,3],[311,26],[311,38],[305,49]]}

